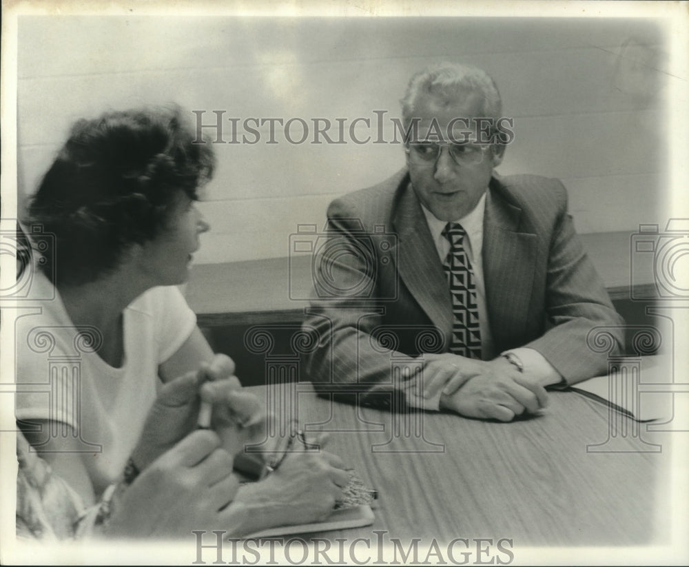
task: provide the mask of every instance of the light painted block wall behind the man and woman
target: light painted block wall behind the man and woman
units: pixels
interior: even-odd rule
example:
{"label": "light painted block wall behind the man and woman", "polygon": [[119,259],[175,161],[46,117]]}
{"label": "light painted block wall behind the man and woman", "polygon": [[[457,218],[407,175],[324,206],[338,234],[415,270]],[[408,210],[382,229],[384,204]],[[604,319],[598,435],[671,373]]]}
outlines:
{"label": "light painted block wall behind the man and woman", "polygon": [[[516,131],[500,173],[561,178],[582,233],[664,223],[667,56],[655,25],[639,20],[23,17],[21,196],[81,116],[176,102],[207,110],[204,123],[225,110],[240,123],[340,117],[349,128],[387,110],[389,127],[409,76],[443,60],[495,77]],[[261,135],[215,145],[218,170],[200,205],[212,231],[197,262],[286,256],[298,224],[322,225],[332,198],[404,161],[400,145],[314,145],[312,131],[292,145],[280,127],[277,144],[265,143],[267,127]]]}

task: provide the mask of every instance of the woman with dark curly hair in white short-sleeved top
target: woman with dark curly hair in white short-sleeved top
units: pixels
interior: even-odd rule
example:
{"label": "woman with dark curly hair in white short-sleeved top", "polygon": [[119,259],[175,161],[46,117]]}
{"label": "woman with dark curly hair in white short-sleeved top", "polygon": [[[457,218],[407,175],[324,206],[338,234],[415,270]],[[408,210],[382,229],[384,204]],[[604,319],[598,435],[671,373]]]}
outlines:
{"label": "woman with dark curly hair in white short-sleeved top", "polygon": [[[28,223],[54,235],[54,246],[27,267],[41,309],[17,324],[17,422],[84,506],[121,478],[125,464],[131,480],[132,468],[143,470],[195,429],[204,380],[240,388],[234,364],[214,356],[176,287],[209,229],[196,201],[213,169],[210,145],[195,140],[179,109],[110,112],[74,125],[30,203]],[[146,440],[156,392],[183,376],[192,381],[179,402],[186,409],[173,402],[158,426],[168,438]],[[223,398],[241,419],[256,409],[246,396]],[[238,400],[249,407],[237,409]],[[142,438],[155,448],[150,455],[134,451]],[[322,502],[295,496],[286,503],[287,524],[327,514],[347,482],[333,455],[297,456],[265,490]],[[295,482],[309,489],[289,489]]]}

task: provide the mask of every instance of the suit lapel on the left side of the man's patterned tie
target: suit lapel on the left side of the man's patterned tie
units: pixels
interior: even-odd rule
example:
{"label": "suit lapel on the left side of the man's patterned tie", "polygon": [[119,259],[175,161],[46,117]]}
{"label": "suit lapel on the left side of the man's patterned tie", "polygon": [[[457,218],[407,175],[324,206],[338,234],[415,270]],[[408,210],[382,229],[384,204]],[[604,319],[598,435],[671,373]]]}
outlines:
{"label": "suit lapel on the left side of the man's patterned tie", "polygon": [[399,238],[398,273],[409,292],[433,324],[449,340],[452,332],[452,302],[438,250],[433,244],[426,217],[418,198],[402,180],[400,200],[393,217]]}

